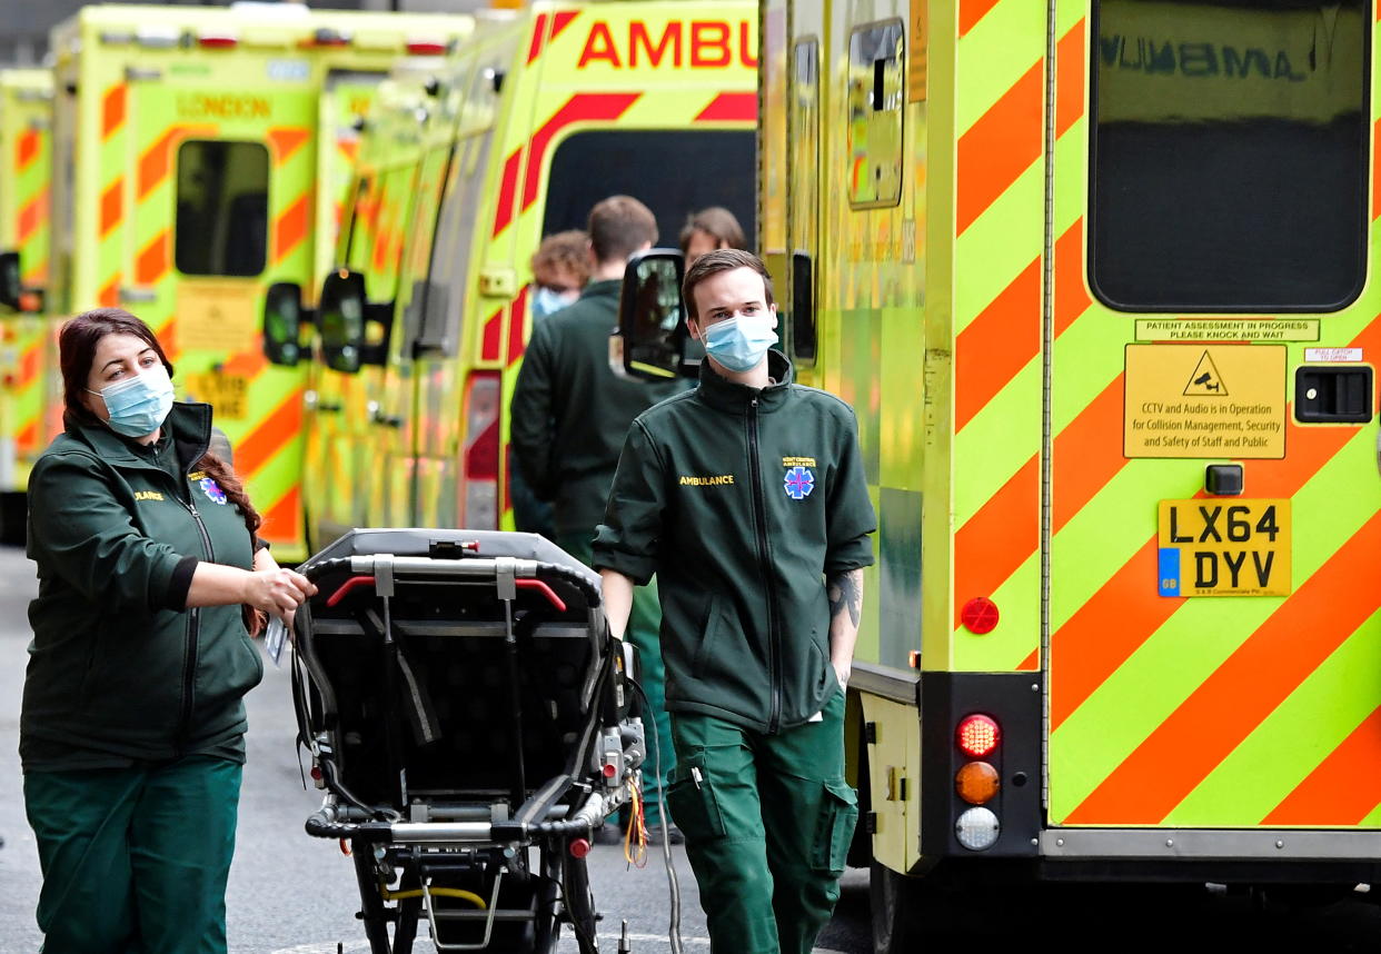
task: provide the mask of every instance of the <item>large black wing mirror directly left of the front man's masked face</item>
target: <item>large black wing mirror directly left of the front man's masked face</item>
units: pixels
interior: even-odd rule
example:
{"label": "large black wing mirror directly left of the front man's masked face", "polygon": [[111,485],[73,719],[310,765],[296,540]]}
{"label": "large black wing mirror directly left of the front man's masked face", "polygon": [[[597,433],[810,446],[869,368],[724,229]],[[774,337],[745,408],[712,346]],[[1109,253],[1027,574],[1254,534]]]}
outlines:
{"label": "large black wing mirror directly left of the front man's masked face", "polygon": [[686,356],[690,334],[681,302],[684,269],[685,260],[675,249],[649,249],[628,260],[619,327],[609,340],[615,373],[642,381],[695,373],[699,360]]}

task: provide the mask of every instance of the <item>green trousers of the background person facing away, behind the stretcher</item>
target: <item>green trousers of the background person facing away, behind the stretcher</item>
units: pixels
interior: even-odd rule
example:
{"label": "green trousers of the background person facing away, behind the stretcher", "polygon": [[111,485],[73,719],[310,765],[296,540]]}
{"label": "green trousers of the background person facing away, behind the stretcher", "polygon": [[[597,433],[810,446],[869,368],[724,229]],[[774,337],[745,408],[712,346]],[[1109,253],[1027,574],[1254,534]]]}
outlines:
{"label": "green trousers of the background person facing away, behind the stretcher", "polygon": [[[588,536],[568,534],[557,541],[557,545],[574,556],[581,563],[590,565],[592,554],[594,530]],[[628,642],[638,650],[638,663],[642,668],[642,678],[638,685],[648,696],[648,708],[644,712],[644,730],[648,733],[648,761],[642,766],[642,799],[644,815],[648,828],[652,830],[661,821],[661,798],[659,794],[657,759],[660,758],[661,779],[660,790],[667,790],[667,779],[675,768],[677,757],[671,747],[671,717],[667,715],[667,670],[661,664],[661,605],[657,601],[657,578],[645,587],[634,587],[632,612],[628,614],[628,631],[624,634]],[[650,723],[650,725],[648,725]]]}

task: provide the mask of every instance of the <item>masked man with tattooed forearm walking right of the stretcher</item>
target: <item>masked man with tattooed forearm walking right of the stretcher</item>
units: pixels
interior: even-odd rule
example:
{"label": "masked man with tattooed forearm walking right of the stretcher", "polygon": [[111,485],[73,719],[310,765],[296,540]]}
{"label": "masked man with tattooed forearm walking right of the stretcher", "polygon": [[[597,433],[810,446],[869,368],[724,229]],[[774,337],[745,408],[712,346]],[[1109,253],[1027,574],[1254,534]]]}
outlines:
{"label": "masked man with tattooed forearm walking right of the stretcher", "polygon": [[700,387],[637,417],[594,545],[621,635],[657,576],[668,802],[715,954],[808,954],[858,819],[844,688],[876,529],[853,411],[791,384],[762,262],[725,249],[682,286]]}

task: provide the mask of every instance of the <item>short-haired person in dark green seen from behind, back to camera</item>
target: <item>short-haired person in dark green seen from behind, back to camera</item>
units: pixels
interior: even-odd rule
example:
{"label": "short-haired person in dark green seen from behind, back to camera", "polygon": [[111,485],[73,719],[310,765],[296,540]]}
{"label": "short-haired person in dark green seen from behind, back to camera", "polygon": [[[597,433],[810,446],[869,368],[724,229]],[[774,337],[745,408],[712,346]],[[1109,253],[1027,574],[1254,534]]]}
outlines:
{"label": "short-haired person in dark green seen from behind, back to camera", "polygon": [[[555,543],[586,563],[628,425],[684,389],[679,381],[630,381],[609,367],[609,331],[619,323],[624,266],[632,253],[657,240],[652,211],[630,196],[612,196],[590,211],[588,232],[590,284],[576,304],[533,329],[510,409],[518,469],[539,500],[552,503]],[[628,639],[641,656],[648,730],[656,736],[664,781],[673,755],[671,725],[661,703],[660,621],[656,591],[639,594]],[[657,779],[652,770],[644,779],[646,820],[656,831],[661,808]]]}

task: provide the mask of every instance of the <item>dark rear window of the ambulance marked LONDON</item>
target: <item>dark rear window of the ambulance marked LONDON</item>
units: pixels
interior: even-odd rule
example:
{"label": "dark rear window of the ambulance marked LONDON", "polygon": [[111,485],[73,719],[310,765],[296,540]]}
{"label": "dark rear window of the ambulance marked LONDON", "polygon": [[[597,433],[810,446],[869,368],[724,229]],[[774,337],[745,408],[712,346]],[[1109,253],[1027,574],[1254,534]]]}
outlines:
{"label": "dark rear window of the ambulance marked LONDON", "polygon": [[184,275],[250,276],[268,258],[268,149],[188,139],[177,150],[173,261]]}

